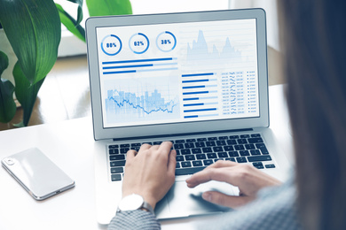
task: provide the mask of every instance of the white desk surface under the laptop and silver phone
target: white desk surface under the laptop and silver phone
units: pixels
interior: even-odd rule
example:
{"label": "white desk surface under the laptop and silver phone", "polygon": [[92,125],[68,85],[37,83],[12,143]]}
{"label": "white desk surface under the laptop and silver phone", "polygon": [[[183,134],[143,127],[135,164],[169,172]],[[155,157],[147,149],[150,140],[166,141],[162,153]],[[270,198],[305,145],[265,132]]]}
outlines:
{"label": "white desk surface under the laptop and silver phone", "polygon": [[[291,158],[283,86],[270,87],[271,129]],[[104,229],[96,222],[91,118],[0,132],[0,158],[38,147],[75,182],[75,188],[37,202],[0,168],[0,229]],[[208,221],[213,217],[203,218]],[[162,229],[190,229],[201,218],[162,222]]]}

